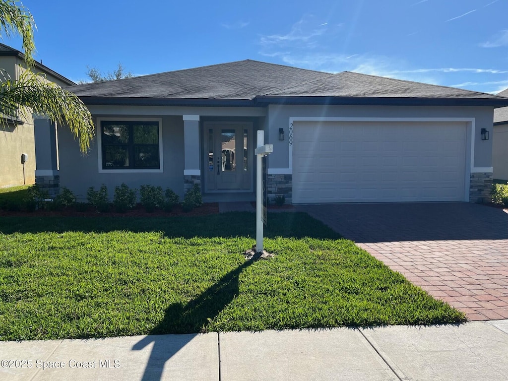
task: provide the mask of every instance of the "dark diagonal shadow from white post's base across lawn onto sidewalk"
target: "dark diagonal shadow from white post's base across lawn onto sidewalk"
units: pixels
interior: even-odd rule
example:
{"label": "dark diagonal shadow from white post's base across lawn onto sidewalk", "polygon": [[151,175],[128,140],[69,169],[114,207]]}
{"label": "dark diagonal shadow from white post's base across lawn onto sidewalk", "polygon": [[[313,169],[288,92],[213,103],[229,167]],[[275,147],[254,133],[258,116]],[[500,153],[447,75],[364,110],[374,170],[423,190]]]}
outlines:
{"label": "dark diagonal shadow from white post's base across lawn onto sidewalk", "polygon": [[149,332],[148,336],[132,347],[133,351],[140,351],[153,342],[142,381],[160,380],[166,362],[194,338],[194,335],[170,338],[161,335],[200,332],[203,326],[213,320],[238,295],[240,273],[252,262],[259,259],[259,255],[256,255],[249,261],[245,261],[187,305],[174,303],[166,308],[164,319]]}

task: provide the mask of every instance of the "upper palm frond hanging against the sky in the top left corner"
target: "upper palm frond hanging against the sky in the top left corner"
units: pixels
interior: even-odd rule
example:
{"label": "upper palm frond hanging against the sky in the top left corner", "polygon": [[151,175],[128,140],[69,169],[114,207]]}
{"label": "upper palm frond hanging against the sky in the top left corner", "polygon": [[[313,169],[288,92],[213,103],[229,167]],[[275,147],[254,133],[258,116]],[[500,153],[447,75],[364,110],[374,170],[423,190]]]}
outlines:
{"label": "upper palm frond hanging against the sky in the top left corner", "polygon": [[34,66],[34,30],[36,28],[34,18],[21,2],[0,1],[0,36],[11,37],[13,33],[21,36],[25,60],[29,66]]}

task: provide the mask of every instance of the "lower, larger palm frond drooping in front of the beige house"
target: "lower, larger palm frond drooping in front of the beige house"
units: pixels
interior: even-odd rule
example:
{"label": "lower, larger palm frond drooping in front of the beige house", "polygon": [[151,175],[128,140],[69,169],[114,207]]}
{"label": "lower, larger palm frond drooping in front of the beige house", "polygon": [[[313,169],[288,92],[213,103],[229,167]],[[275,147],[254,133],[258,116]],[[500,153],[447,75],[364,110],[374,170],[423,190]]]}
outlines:
{"label": "lower, larger palm frond drooping in front of the beige house", "polygon": [[26,71],[18,80],[5,78],[0,84],[0,109],[17,109],[46,115],[61,125],[67,125],[86,152],[94,136],[95,126],[90,112],[75,94],[55,83],[46,82],[44,74]]}

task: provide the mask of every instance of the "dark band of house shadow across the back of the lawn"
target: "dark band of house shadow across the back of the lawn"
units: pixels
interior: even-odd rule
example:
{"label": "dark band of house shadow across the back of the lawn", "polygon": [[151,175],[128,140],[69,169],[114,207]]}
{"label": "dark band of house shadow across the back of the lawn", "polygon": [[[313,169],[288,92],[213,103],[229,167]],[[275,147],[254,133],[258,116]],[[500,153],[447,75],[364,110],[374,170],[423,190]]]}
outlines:
{"label": "dark band of house shadow across the back of the lawn", "polygon": [[[189,217],[3,217],[0,233],[129,231],[163,232],[166,237],[256,237],[256,216],[231,212]],[[265,237],[338,239],[340,235],[307,213],[269,213]]]}

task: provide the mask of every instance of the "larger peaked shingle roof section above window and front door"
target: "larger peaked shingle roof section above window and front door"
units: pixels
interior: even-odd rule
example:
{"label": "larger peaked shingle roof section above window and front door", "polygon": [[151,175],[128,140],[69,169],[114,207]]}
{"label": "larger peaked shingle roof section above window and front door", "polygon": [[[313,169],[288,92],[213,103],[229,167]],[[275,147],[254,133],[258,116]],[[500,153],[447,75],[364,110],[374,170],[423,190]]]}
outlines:
{"label": "larger peaked shingle roof section above window and front door", "polygon": [[115,81],[68,87],[78,97],[251,100],[256,96],[330,76],[272,63],[221,63]]}

